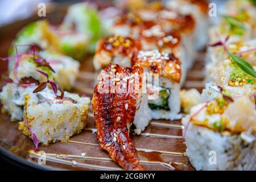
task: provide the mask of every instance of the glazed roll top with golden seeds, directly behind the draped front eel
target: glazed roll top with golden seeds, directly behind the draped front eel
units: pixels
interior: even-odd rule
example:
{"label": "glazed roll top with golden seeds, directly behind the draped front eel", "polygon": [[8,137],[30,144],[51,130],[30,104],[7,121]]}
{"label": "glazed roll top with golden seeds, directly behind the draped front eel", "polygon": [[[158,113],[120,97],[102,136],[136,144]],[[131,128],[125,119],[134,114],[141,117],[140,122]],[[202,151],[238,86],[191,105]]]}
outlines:
{"label": "glazed roll top with golden seeds, directly behind the draped front eel", "polygon": [[96,71],[106,67],[109,63],[121,67],[131,67],[134,52],[141,49],[141,44],[134,39],[113,35],[98,42],[93,65]]}

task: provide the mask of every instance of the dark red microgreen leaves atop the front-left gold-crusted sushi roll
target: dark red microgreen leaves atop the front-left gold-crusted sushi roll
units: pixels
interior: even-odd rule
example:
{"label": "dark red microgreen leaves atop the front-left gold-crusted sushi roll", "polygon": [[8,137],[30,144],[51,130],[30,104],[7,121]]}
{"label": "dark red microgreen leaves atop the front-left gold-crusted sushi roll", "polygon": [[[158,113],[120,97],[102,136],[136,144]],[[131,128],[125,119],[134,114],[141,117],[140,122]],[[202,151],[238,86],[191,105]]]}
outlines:
{"label": "dark red microgreen leaves atop the front-left gold-crusted sushi roll", "polygon": [[53,90],[53,92],[54,92],[55,94],[57,94],[57,92],[58,92],[57,86],[59,86],[59,89],[60,89],[60,92],[61,92],[60,98],[63,98],[63,96],[64,96],[64,90],[63,90],[63,88],[61,87],[61,85],[60,85],[58,82],[55,83],[54,81],[49,80],[49,76],[48,76],[48,74],[47,74],[46,72],[43,72],[43,71],[40,71],[40,70],[36,70],[36,71],[38,71],[38,72],[41,73],[43,76],[45,76],[46,79],[47,79],[47,81],[42,82],[41,84],[39,84],[38,87],[33,91],[33,93],[38,93],[38,92],[44,90],[44,89],[46,88],[47,84],[50,84],[51,87],[52,87],[52,90]]}

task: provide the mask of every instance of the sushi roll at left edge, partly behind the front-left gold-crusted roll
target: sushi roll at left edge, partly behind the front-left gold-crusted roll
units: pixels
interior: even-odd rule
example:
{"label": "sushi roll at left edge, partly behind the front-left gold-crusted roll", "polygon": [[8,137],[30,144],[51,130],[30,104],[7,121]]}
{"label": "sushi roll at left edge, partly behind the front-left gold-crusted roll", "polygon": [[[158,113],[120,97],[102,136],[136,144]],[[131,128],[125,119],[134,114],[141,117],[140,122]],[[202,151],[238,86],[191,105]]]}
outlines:
{"label": "sushi roll at left edge, partly behind the front-left gold-crusted roll", "polygon": [[[35,56],[37,58],[37,56]],[[51,67],[46,62],[36,63],[34,55],[23,54],[16,58],[14,68],[9,74],[7,84],[0,93],[2,112],[11,115],[11,121],[20,121],[23,116],[24,92],[32,93],[36,85],[47,81],[46,77],[36,71],[47,72],[52,80]]]}

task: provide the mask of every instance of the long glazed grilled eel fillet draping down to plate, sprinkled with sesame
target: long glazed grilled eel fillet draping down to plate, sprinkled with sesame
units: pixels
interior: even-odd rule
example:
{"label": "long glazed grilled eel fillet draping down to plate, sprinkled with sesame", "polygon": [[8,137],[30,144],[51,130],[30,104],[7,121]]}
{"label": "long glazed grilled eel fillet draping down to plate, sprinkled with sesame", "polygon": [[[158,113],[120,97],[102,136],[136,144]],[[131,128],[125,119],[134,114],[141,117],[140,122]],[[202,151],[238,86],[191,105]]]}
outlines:
{"label": "long glazed grilled eel fillet draping down to plate, sprinkled with sesame", "polygon": [[[104,92],[99,91],[102,85],[110,90],[110,80],[115,82],[119,90],[129,86],[127,78],[141,74],[142,68],[121,68],[117,64],[109,64],[101,72],[101,78],[94,89],[92,109],[97,129],[96,137],[100,147],[109,152],[109,156],[126,170],[143,170],[139,164],[137,150],[129,137],[129,128],[134,120],[138,92]],[[138,73],[138,74],[137,74]],[[119,78],[109,77],[113,74]],[[139,78],[139,77],[137,77]],[[141,89],[141,78],[139,78]]]}

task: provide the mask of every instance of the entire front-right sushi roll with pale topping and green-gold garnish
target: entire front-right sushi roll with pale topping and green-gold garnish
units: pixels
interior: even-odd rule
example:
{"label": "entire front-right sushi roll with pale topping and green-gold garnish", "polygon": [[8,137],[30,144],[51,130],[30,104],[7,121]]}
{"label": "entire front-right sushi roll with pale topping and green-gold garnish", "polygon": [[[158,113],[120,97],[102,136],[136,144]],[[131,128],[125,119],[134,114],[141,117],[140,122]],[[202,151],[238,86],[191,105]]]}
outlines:
{"label": "entire front-right sushi roll with pale topping and green-gold garnish", "polygon": [[[246,108],[246,109],[241,109]],[[248,96],[217,97],[182,119],[187,156],[197,170],[255,170],[256,110]]]}

